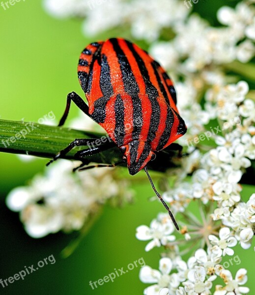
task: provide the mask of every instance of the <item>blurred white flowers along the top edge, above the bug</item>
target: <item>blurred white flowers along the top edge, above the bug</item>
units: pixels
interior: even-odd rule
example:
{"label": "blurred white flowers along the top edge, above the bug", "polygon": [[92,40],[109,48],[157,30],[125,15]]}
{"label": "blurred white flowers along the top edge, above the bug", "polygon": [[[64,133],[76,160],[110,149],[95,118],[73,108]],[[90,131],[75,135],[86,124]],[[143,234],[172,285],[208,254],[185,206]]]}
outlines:
{"label": "blurred white flowers along the top edge, above the bug", "polygon": [[138,39],[156,40],[162,28],[182,22],[188,10],[179,0],[45,0],[56,17],[85,17],[85,35],[128,25]]}

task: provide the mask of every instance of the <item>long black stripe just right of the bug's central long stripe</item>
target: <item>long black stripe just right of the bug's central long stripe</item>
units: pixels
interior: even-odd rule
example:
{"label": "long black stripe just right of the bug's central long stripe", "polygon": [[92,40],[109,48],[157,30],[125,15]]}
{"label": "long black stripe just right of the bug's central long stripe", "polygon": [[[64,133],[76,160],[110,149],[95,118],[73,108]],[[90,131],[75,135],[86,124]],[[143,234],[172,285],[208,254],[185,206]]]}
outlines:
{"label": "long black stripe just right of the bug's central long stripe", "polygon": [[160,122],[160,106],[157,101],[157,97],[159,95],[158,90],[153,86],[153,84],[150,81],[148,70],[144,64],[143,59],[140,57],[140,55],[136,52],[134,49],[133,43],[126,41],[128,48],[134,55],[137,64],[139,66],[140,72],[142,74],[143,81],[145,83],[145,92],[148,95],[148,98],[151,103],[152,108],[152,114],[150,118],[150,127],[149,127],[149,133],[147,137],[148,142],[152,142],[153,139],[156,136],[156,132],[159,127]]}

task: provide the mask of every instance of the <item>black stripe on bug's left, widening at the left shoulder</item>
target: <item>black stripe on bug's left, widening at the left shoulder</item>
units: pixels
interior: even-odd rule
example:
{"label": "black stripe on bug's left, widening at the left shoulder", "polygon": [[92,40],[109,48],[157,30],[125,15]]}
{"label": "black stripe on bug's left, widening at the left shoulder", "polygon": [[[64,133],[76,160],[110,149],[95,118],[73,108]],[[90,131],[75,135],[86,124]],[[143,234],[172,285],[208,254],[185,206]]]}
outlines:
{"label": "black stripe on bug's left, widening at the left shoulder", "polygon": [[100,97],[94,102],[95,109],[91,117],[97,123],[104,123],[106,118],[106,104],[111,98],[111,96],[113,95],[110,66],[108,64],[107,57],[104,54],[102,55],[102,63],[101,63],[100,88],[104,96]]}

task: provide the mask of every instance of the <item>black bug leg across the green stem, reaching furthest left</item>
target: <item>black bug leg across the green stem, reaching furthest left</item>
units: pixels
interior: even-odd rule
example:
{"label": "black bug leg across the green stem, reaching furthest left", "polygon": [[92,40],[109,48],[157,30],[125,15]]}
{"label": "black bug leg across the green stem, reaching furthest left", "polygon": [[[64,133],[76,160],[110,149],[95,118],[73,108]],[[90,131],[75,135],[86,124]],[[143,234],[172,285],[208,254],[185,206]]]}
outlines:
{"label": "black bug leg across the green stem, reaching furthest left", "polygon": [[[81,146],[89,146],[90,147],[90,144],[93,144],[95,142],[95,139],[93,138],[81,138],[81,139],[75,139],[73,142],[70,143],[69,146],[67,146],[66,148],[60,150],[56,156],[50,160],[50,162],[48,162],[46,164],[46,166],[50,165],[52,162],[56,161],[59,157],[62,157],[64,155],[66,155],[72,148],[74,147],[81,147]],[[99,147],[96,147],[96,149],[99,149],[100,147],[102,146],[105,146],[105,145],[110,145],[109,148],[111,148],[113,146],[113,142],[109,142],[109,143],[106,143],[106,144],[103,144],[103,145],[100,145]],[[93,151],[95,148],[88,148],[87,150],[90,151],[90,155],[93,154],[93,152],[91,153],[91,151]],[[102,149],[102,148],[101,148]],[[107,148],[105,148],[107,149]],[[102,149],[102,150],[105,150],[105,149]],[[101,150],[97,151],[97,152],[100,152]]]}

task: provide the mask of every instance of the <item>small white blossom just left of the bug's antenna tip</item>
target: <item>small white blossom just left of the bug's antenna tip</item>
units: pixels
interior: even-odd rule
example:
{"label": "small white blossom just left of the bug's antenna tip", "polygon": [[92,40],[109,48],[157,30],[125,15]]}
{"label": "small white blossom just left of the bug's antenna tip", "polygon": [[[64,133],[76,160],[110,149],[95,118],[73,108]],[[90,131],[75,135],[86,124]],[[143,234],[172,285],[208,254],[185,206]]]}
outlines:
{"label": "small white blossom just left of the bug's antenna tip", "polygon": [[153,219],[150,227],[141,225],[137,228],[136,237],[146,241],[152,239],[146,247],[145,251],[150,251],[154,247],[167,245],[168,242],[174,241],[175,236],[171,235],[174,231],[172,221],[168,214],[159,214],[158,219]]}

